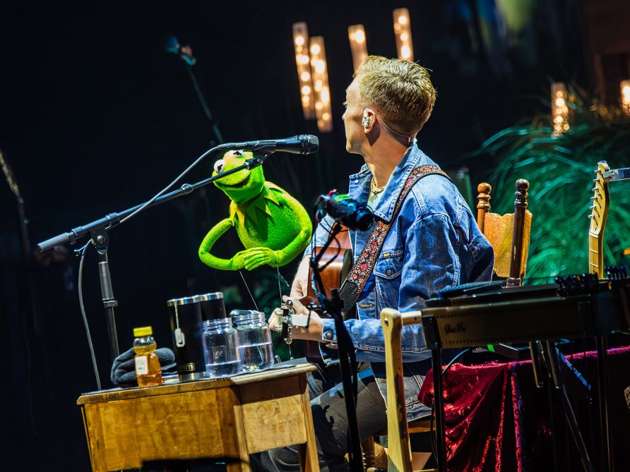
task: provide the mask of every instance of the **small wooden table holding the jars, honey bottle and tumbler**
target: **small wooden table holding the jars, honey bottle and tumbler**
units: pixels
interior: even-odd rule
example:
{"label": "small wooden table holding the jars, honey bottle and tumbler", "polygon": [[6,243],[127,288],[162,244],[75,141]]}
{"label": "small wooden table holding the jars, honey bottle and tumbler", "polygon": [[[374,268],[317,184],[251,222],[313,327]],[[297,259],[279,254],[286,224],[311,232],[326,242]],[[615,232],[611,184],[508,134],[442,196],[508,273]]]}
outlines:
{"label": "small wooden table holding the jars, honey bottle and tumbler", "polygon": [[77,400],[94,472],[145,461],[226,457],[249,471],[254,452],[297,444],[319,471],[306,374],[310,364],[225,379],[113,389]]}

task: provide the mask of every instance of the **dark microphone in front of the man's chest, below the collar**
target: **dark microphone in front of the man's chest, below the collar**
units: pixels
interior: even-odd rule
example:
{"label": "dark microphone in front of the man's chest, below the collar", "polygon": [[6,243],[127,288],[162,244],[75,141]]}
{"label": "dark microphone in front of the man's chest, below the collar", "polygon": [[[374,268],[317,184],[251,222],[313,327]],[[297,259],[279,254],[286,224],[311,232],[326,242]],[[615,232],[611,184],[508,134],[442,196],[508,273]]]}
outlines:
{"label": "dark microphone in front of the man's chest, below the collar", "polygon": [[315,218],[319,223],[326,214],[330,214],[335,222],[349,229],[365,231],[372,226],[374,213],[367,205],[352,200],[345,193],[331,190],[328,195],[320,195],[315,205]]}

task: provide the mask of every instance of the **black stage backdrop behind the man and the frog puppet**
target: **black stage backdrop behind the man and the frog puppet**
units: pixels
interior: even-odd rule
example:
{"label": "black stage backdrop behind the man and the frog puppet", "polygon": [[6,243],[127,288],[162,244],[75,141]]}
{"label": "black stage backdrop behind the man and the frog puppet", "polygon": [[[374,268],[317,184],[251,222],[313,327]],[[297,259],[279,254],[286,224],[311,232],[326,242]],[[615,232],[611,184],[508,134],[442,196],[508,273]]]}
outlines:
{"label": "black stage backdrop behind the man and the frog puppet", "polygon": [[[541,97],[547,99],[551,78],[588,85],[577,1],[510,4],[5,1],[0,7],[0,149],[25,201],[30,243],[24,258],[16,198],[3,180],[0,462],[14,468],[1,468],[89,468],[75,404],[81,392],[95,389],[76,293],[78,258],[73,248],[36,258],[34,248],[38,241],[150,198],[210,147],[213,134],[184,63],[164,50],[167,35],[193,48],[194,71],[225,140],[320,136],[318,155],[278,154],[265,164],[268,180],[308,208],[318,193],[345,188],[345,176],[362,164],[345,152],[340,120],[352,75],[348,25],[365,26],[369,53],[393,57],[392,10],[409,8],[415,59],[432,69],[439,94],[419,145],[443,167],[458,167],[465,153],[523,116],[548,113]],[[518,30],[506,27],[499,7],[522,20]],[[302,117],[291,31],[292,23],[302,20],[311,35],[326,40],[335,116],[334,130],[326,135]],[[214,160],[184,181],[208,176]],[[466,164],[473,182],[487,174],[485,162]],[[225,195],[208,187],[111,231],[121,349],[131,346],[131,330],[139,325],[153,325],[158,344],[170,345],[168,298],[225,290],[228,308],[249,308],[238,274],[210,270],[196,255],[227,205]],[[220,250],[234,253],[234,239],[234,234],[224,236]],[[290,271],[283,271],[289,280]],[[245,274],[259,297],[266,296],[259,280],[271,276],[263,269]],[[107,386],[105,316],[91,250],[84,290]]]}

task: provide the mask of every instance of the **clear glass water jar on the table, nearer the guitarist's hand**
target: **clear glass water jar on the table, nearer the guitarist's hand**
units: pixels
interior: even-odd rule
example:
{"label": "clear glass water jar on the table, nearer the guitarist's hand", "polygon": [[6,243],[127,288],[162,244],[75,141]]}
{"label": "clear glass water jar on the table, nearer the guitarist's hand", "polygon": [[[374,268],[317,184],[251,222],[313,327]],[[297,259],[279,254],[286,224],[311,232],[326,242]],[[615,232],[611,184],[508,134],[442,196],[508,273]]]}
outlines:
{"label": "clear glass water jar on the table, nearer the guitarist's hand", "polygon": [[271,332],[264,313],[256,310],[232,310],[239,339],[239,353],[244,372],[257,372],[273,365]]}

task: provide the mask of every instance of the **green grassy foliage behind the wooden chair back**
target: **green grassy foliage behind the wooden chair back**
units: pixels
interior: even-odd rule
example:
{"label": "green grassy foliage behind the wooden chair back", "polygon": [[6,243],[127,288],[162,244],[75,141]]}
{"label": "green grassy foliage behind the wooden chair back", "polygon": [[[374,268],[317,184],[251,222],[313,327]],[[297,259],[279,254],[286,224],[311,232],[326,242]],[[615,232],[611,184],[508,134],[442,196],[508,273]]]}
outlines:
{"label": "green grassy foliage behind the wooden chair back", "polygon": [[[630,165],[630,121],[615,108],[587,107],[583,92],[569,86],[570,129],[552,138],[549,115],[493,135],[475,166],[487,159],[492,211],[513,212],[514,183],[530,183],[533,213],[527,279],[546,283],[559,274],[588,271],[588,229],[593,172],[599,161],[611,169]],[[630,246],[630,180],[610,183],[610,212],[604,236],[605,265],[617,264]]]}

